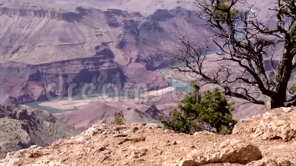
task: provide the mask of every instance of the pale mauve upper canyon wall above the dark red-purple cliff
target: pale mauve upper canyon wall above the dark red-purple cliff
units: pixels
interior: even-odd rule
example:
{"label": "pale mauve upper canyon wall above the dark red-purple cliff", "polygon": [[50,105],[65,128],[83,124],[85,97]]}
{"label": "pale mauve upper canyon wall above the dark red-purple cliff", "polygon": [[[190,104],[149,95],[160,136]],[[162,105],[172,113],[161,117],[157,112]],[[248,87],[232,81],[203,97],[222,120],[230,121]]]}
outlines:
{"label": "pale mauve upper canyon wall above the dark red-purple cliff", "polygon": [[0,62],[43,64],[91,57],[97,46],[105,45],[122,66],[140,63],[156,70],[175,62],[171,54],[181,36],[208,35],[194,12],[182,8],[145,17],[118,9],[33,5],[0,6]]}

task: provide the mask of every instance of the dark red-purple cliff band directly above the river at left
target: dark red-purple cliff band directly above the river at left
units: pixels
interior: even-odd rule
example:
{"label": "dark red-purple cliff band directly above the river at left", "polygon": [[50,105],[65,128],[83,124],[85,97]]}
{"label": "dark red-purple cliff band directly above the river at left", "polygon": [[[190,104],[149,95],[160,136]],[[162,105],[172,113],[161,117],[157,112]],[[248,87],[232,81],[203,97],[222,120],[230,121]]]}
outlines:
{"label": "dark red-purple cliff band directly above the river at left", "polygon": [[8,62],[0,70],[0,100],[15,104],[101,92],[108,84],[121,91],[127,81],[121,67],[105,56],[39,65]]}

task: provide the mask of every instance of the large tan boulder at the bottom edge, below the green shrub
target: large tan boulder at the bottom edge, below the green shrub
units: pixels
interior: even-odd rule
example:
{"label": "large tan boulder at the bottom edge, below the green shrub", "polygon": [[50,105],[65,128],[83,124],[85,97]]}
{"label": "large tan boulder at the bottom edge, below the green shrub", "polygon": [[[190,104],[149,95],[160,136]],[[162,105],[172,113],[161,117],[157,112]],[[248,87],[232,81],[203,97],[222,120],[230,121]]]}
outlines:
{"label": "large tan boulder at the bottom edge, below the green shrub", "polygon": [[223,162],[246,164],[262,159],[262,154],[254,145],[239,140],[227,140],[215,149],[194,150],[187,155],[187,158],[193,159],[196,165]]}

